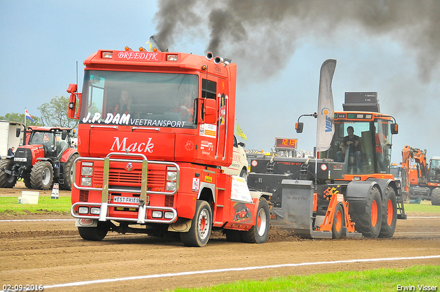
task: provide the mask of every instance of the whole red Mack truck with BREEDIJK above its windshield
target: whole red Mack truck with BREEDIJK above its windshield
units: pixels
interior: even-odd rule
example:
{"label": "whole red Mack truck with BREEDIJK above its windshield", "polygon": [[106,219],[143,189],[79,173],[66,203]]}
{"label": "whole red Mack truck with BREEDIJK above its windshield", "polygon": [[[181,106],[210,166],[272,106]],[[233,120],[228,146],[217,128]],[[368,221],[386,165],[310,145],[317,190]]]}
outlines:
{"label": "whole red Mack truck with BREEDIJK above its windshield", "polygon": [[67,89],[80,120],[71,214],[82,238],[179,232],[203,247],[222,229],[228,240],[267,240],[270,194],[221,170],[232,164],[235,64],[153,44],[99,50],[84,65],[83,92]]}

